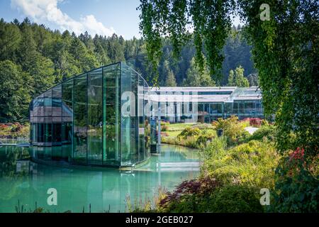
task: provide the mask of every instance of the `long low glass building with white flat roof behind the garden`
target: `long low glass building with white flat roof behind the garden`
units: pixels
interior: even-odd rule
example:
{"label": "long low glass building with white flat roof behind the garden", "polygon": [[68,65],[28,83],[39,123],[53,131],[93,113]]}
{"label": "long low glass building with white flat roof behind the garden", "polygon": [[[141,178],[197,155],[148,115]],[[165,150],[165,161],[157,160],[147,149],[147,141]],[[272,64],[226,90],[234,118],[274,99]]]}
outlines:
{"label": "long low glass building with white flat roof behind the garden", "polygon": [[152,87],[155,116],[171,123],[206,122],[237,116],[264,118],[258,87]]}

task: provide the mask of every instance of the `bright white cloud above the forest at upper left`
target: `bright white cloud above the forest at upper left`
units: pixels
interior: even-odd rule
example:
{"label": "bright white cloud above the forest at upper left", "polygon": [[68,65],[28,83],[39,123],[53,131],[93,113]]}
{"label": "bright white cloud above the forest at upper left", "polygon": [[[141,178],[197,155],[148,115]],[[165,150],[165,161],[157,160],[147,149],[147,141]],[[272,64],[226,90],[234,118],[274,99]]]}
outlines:
{"label": "bright white cloud above the forest at upper left", "polygon": [[21,10],[23,14],[37,23],[55,23],[62,31],[74,31],[77,35],[88,31],[91,35],[112,35],[114,28],[106,28],[103,23],[96,21],[93,15],[80,18],[79,21],[70,18],[57,6],[64,0],[11,0],[11,7]]}

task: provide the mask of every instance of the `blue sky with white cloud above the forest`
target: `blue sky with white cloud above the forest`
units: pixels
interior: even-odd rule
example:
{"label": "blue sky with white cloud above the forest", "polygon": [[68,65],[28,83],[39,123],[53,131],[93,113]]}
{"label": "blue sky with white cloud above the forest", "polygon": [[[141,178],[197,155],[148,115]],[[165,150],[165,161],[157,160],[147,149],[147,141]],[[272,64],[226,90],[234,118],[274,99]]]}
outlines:
{"label": "blue sky with white cloud above the forest", "polygon": [[28,16],[51,29],[68,29],[77,35],[116,33],[130,39],[140,37],[139,4],[139,0],[1,0],[0,17],[22,21]]}

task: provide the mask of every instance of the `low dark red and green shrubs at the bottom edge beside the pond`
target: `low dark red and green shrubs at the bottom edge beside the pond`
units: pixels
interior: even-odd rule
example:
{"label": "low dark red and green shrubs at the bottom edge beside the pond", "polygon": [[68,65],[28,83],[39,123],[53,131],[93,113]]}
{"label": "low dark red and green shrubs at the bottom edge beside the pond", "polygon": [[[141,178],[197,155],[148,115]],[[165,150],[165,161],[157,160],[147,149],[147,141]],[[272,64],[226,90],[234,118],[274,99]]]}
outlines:
{"label": "low dark red and green shrubs at the bottom edge beside the pond", "polygon": [[262,212],[257,189],[246,185],[223,186],[205,177],[179,184],[177,189],[159,202],[164,212]]}

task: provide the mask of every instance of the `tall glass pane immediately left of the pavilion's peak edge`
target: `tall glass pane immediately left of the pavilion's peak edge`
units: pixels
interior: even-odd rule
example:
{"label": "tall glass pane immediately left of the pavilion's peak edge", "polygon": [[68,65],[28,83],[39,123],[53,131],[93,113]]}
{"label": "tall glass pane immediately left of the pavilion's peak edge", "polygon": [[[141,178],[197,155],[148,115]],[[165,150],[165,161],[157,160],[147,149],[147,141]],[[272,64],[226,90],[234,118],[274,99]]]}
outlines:
{"label": "tall glass pane immediately left of the pavilion's peak edge", "polygon": [[119,78],[120,64],[103,68],[103,165],[120,165]]}

